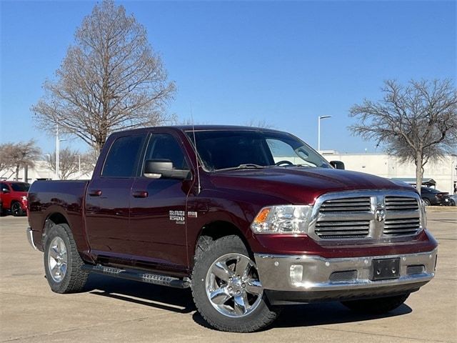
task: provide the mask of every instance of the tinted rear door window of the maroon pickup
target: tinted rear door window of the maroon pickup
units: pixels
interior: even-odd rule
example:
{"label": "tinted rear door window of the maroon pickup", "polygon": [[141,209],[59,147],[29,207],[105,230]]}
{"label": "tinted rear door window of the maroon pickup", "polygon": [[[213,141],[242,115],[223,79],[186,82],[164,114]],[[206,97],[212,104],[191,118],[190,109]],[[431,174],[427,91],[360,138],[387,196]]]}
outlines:
{"label": "tinted rear door window of the maroon pickup", "polygon": [[102,177],[133,177],[136,161],[143,143],[143,135],[119,137],[106,156]]}

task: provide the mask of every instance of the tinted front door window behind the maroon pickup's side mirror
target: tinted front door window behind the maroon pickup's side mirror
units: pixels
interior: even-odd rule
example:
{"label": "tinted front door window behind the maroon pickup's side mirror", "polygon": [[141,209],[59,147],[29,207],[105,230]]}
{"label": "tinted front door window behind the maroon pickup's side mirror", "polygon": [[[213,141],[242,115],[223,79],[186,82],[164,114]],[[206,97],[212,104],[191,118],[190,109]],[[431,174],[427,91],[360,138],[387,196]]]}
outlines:
{"label": "tinted front door window behind the maroon pickup's side mirror", "polygon": [[146,149],[145,160],[147,159],[169,159],[173,162],[174,169],[189,169],[181,146],[171,134],[151,136]]}

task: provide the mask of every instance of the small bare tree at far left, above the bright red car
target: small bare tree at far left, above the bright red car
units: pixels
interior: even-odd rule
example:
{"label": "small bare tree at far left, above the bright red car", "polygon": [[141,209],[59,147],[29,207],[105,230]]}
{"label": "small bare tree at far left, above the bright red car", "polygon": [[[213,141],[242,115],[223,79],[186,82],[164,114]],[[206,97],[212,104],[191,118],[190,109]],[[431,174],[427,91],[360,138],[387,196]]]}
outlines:
{"label": "small bare tree at far left, above the bright red car", "polygon": [[16,181],[19,179],[19,171],[23,168],[33,167],[36,159],[39,158],[41,150],[36,146],[35,141],[21,141],[19,143],[5,144],[4,151],[1,153],[6,161],[6,166],[14,169]]}

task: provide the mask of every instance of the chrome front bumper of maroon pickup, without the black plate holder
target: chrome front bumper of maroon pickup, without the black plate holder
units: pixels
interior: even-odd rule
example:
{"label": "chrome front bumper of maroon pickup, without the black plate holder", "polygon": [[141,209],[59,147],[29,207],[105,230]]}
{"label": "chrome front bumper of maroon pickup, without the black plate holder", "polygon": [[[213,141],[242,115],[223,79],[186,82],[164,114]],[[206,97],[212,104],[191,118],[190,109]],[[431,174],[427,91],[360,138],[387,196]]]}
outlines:
{"label": "chrome front bumper of maroon pickup, without the black plate holder", "polygon": [[[255,254],[258,274],[273,304],[387,297],[415,292],[435,276],[438,249],[417,254],[325,259],[311,255]],[[373,281],[378,259],[399,259],[395,279]]]}

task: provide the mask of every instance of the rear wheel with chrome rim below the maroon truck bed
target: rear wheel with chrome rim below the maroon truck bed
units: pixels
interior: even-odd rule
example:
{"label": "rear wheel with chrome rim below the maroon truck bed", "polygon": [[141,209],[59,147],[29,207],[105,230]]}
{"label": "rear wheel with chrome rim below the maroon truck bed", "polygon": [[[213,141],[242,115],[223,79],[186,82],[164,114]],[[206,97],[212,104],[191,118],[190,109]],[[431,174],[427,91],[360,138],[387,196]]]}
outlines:
{"label": "rear wheel with chrome rim below the maroon truck bed", "polygon": [[56,293],[81,292],[89,275],[81,269],[83,265],[70,227],[67,224],[51,227],[44,249],[44,271],[51,290]]}

